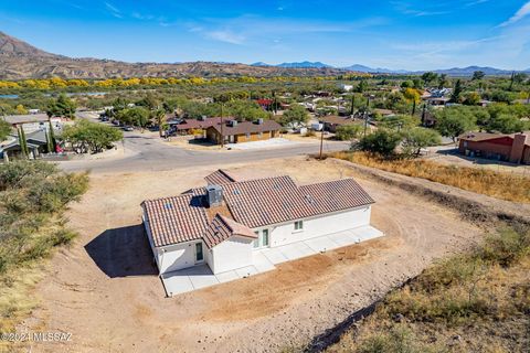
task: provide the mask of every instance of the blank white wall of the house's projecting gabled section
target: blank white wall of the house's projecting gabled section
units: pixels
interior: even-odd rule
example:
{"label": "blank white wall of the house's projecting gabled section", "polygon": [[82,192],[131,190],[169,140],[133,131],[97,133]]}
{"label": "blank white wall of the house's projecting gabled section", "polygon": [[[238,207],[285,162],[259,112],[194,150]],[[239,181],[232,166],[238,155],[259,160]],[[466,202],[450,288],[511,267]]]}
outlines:
{"label": "blank white wall of the house's projecting gabled section", "polygon": [[219,274],[253,265],[252,240],[246,237],[232,236],[214,246],[212,264],[209,263],[212,272]]}

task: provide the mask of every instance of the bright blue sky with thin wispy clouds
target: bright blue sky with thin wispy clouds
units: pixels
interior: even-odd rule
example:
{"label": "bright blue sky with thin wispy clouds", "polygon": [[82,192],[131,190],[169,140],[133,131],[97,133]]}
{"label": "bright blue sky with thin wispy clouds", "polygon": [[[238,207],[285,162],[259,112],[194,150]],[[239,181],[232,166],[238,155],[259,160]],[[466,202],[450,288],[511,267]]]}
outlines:
{"label": "bright blue sky with thin wispy clouds", "polygon": [[530,1],[0,0],[0,31],[127,62],[530,67]]}

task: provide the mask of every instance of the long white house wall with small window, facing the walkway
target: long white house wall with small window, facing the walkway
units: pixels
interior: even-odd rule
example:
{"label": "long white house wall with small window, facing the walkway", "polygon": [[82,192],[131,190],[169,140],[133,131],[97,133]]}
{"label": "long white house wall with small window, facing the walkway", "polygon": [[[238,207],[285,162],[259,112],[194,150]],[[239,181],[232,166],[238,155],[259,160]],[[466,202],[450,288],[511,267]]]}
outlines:
{"label": "long white house wall with small window, facing the walkway", "polygon": [[268,227],[271,231],[271,247],[282,246],[295,242],[307,240],[317,236],[338,233],[370,225],[371,206],[362,206],[342,213],[324,215],[315,218],[305,218],[304,229],[295,231],[295,221]]}

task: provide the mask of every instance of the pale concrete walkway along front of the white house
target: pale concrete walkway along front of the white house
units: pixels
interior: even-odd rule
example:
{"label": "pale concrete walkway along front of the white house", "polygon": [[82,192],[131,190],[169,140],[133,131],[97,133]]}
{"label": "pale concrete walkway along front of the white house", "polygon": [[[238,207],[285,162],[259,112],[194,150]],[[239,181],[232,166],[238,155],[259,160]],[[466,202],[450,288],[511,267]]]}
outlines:
{"label": "pale concrete walkway along front of the white house", "polygon": [[275,265],[316,255],[327,250],[358,244],[383,236],[372,226],[358,227],[344,232],[322,235],[304,242],[254,252],[252,266],[214,275],[208,265],[184,268],[162,275],[162,284],[168,297],[184,293],[231,280],[246,278],[275,269]]}

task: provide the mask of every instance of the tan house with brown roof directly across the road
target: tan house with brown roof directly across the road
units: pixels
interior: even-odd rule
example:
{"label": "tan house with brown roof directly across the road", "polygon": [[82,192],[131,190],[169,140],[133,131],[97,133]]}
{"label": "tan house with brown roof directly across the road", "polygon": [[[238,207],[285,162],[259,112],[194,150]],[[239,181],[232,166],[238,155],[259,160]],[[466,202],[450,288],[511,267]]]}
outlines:
{"label": "tan house with brown roof directly across the road", "polygon": [[242,122],[235,119],[223,119],[222,124],[218,121],[206,129],[206,138],[213,143],[261,141],[278,137],[280,129],[282,126],[278,122],[269,119]]}

